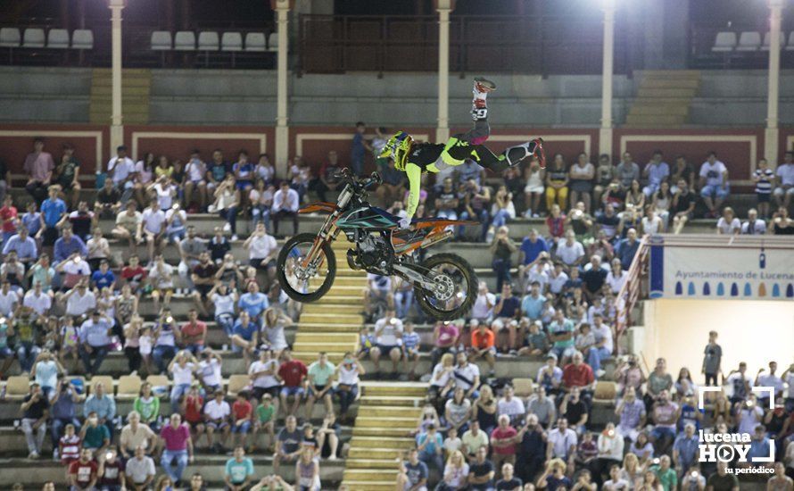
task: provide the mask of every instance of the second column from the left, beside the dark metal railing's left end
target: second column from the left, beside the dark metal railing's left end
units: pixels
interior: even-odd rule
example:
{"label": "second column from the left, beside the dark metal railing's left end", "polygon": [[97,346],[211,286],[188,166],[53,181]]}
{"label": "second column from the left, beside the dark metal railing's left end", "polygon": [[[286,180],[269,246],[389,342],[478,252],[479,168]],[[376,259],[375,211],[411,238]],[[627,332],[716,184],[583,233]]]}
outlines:
{"label": "second column from the left, beside the dark metal railing's left end", "polygon": [[290,0],[270,0],[270,5],[277,13],[277,99],[276,99],[276,170],[286,175],[286,161],[289,158],[289,127],[287,126],[287,54],[289,37],[289,11],[294,2]]}

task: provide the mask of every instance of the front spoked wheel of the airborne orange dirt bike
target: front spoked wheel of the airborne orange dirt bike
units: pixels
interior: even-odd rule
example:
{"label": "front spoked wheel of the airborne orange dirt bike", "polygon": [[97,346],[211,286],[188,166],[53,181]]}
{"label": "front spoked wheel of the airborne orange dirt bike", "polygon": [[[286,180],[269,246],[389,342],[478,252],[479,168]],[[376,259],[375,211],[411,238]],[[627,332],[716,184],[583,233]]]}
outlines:
{"label": "front spoked wheel of the airborne orange dirt bike", "polygon": [[336,256],[328,243],[309,257],[317,236],[298,234],[286,241],[278,254],[278,282],[285,294],[297,302],[314,302],[334,284]]}

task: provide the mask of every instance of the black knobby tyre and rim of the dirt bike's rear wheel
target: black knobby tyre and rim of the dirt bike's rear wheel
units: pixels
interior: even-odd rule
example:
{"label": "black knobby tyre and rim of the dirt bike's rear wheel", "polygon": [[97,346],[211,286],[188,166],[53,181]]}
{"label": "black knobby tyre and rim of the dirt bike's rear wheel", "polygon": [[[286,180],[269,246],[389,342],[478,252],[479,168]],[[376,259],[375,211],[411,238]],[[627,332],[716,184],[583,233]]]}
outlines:
{"label": "black knobby tyre and rim of the dirt bike's rear wheel", "polygon": [[450,310],[439,308],[435,304],[440,302],[434,297],[434,293],[426,290],[418,285],[414,286],[414,297],[422,310],[428,315],[437,320],[454,320],[461,317],[466,317],[474,304],[477,292],[477,277],[471,265],[457,254],[435,254],[428,257],[420,265],[428,270],[434,270],[443,264],[447,264],[457,270],[456,276],[465,287],[465,292],[460,292],[458,295],[465,295],[461,303]]}

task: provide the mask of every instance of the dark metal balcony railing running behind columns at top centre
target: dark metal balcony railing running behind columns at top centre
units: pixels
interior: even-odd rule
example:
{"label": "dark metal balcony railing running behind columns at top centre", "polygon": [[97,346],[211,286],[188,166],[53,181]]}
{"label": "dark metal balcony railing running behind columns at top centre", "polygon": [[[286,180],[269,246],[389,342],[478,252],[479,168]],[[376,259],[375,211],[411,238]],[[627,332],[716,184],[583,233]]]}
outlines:
{"label": "dark metal balcony railing running behind columns at top centre", "polygon": [[[453,15],[450,23],[451,71],[601,72],[600,20]],[[617,73],[632,70],[622,24],[616,28]],[[296,46],[302,72],[437,71],[438,17],[302,14]]]}

